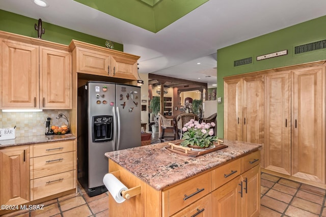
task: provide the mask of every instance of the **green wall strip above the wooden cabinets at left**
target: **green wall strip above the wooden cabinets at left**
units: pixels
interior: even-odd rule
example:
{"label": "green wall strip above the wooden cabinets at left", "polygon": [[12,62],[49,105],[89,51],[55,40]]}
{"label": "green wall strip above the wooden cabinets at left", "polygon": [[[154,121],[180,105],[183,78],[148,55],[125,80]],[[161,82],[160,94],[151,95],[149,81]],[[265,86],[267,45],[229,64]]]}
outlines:
{"label": "green wall strip above the wooden cabinets at left", "polygon": [[[37,30],[34,28],[35,24],[38,24],[37,19],[0,10],[0,30],[5,32],[37,38]],[[45,29],[45,34],[42,35],[42,39],[65,45],[69,45],[71,40],[75,39],[78,41],[105,47],[105,41],[110,40],[80,33],[44,21],[42,21],[42,27]],[[115,42],[114,49],[123,51],[123,44]]]}

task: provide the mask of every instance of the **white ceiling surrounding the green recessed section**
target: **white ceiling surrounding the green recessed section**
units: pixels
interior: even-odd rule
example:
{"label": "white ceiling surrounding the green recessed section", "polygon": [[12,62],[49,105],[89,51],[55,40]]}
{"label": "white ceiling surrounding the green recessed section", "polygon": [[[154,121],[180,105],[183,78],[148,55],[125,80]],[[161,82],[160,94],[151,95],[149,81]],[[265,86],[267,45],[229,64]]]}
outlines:
{"label": "white ceiling surrounding the green recessed section", "polygon": [[46,2],[40,8],[33,0],[1,0],[0,9],[121,43],[141,56],[140,73],[208,87],[216,83],[217,49],[326,15],[325,0],[210,0],[155,34],[72,0]]}

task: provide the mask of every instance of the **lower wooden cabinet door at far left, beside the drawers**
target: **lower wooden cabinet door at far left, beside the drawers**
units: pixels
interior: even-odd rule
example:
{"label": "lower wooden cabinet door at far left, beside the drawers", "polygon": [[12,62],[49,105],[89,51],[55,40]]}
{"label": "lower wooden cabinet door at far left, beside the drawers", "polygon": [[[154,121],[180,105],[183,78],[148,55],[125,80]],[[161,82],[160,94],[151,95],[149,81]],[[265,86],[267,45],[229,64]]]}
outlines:
{"label": "lower wooden cabinet door at far left, beside the drawers", "polygon": [[29,146],[0,149],[0,204],[30,201]]}

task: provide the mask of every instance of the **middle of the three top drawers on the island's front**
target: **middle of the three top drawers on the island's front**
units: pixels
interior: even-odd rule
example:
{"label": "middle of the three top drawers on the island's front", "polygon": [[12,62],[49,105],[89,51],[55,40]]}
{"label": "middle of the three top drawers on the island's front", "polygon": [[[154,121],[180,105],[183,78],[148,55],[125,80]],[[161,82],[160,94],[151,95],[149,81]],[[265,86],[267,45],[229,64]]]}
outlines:
{"label": "middle of the three top drawers on the island's front", "polygon": [[241,174],[241,159],[231,161],[212,171],[212,190],[215,190]]}

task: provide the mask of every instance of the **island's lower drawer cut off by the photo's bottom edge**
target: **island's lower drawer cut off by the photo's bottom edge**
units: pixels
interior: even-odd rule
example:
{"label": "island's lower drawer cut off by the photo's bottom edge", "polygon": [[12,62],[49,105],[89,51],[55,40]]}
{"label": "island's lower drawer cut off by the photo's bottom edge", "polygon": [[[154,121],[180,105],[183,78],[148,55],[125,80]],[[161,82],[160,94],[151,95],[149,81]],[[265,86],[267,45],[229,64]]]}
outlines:
{"label": "island's lower drawer cut off by the photo's bottom edge", "polygon": [[185,207],[172,217],[203,216],[211,217],[211,194]]}

